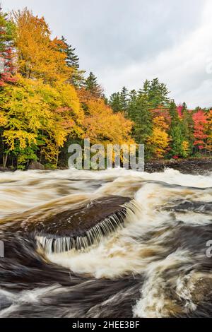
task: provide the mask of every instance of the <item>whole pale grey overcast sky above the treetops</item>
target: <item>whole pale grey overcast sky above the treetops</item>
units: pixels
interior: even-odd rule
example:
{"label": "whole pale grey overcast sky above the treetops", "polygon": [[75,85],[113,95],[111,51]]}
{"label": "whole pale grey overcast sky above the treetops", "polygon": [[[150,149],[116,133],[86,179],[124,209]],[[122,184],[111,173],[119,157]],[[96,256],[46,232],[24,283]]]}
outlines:
{"label": "whole pale grey overcast sky above the treetops", "polygon": [[147,78],[167,84],[177,103],[212,105],[211,0],[1,0],[5,11],[45,16],[93,71],[106,95],[140,88]]}

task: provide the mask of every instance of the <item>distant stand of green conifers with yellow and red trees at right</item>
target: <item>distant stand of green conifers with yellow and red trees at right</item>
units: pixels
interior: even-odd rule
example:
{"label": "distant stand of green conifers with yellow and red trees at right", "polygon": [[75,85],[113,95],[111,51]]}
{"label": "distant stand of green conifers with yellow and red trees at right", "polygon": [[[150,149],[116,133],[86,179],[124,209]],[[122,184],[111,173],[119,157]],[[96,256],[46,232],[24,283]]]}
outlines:
{"label": "distant stand of green conifers with yellow and red trees at right", "polygon": [[145,143],[146,157],[211,155],[211,108],[188,109],[185,102],[177,106],[169,94],[167,86],[155,78],[138,91],[124,87],[107,102],[114,112],[123,110],[133,121],[131,135],[136,143]]}

